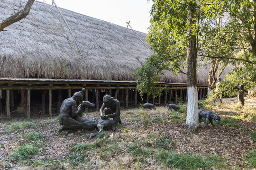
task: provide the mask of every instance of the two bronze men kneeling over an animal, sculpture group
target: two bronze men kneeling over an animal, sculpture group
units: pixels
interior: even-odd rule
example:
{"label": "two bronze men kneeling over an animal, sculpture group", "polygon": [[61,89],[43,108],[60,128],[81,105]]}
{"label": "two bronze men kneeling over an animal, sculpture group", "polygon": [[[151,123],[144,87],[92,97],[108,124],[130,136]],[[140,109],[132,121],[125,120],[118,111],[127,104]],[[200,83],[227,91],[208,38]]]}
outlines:
{"label": "two bronze men kneeling over an animal, sculpture group", "polygon": [[[113,129],[117,123],[121,124],[120,103],[115,97],[108,94],[103,97],[103,104],[100,109],[101,119],[96,121],[82,117],[85,108],[95,107],[95,104],[91,102],[82,101],[84,91],[83,88],[82,91],[74,93],[72,97],[62,102],[59,115],[59,123],[62,125],[60,131],[71,129],[92,131],[98,128],[98,133],[100,133],[103,129]],[[113,120],[109,118],[113,118]],[[90,138],[98,133],[92,134]]]}

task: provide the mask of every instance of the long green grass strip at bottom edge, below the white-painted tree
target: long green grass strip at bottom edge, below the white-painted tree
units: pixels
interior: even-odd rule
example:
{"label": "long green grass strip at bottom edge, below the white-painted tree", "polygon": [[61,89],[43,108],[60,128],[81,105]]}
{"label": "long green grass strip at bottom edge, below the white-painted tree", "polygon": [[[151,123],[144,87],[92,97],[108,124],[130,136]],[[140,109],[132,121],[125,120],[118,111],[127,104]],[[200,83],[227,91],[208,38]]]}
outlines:
{"label": "long green grass strip at bottom edge, below the white-painted tree", "polygon": [[199,155],[160,151],[156,154],[156,158],[167,167],[179,170],[214,170],[214,167],[222,169],[226,166],[225,161],[217,156],[202,157]]}

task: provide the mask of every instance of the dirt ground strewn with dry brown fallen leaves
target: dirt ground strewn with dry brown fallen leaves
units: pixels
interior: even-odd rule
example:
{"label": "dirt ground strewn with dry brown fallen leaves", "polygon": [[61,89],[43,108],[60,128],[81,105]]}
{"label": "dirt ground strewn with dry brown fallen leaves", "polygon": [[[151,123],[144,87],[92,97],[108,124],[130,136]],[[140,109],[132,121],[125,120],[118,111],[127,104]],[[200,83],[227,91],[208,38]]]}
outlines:
{"label": "dirt ground strewn with dry brown fallen leaves", "polygon": [[[184,104],[183,107],[185,108],[186,105]],[[121,110],[123,125],[106,132],[108,138],[113,138],[107,142],[111,141],[111,146],[113,144],[118,145],[113,147],[116,151],[105,152],[104,149],[108,144],[102,144],[102,146],[88,151],[87,161],[79,163],[79,165],[70,164],[67,161],[71,154],[70,148],[80,143],[95,144],[99,139],[95,137],[89,140],[89,134],[96,131],[64,131],[59,133],[58,129],[61,126],[57,116],[53,118],[48,118],[45,115],[38,116],[35,111],[29,120],[14,118],[7,121],[2,116],[0,118],[0,169],[61,169],[59,167],[93,170],[170,169],[159,163],[154,155],[145,156],[146,161],[139,162],[138,158],[129,152],[130,144],[139,141],[154,143],[159,136],[168,136],[174,141],[173,151],[176,153],[220,156],[226,162],[225,169],[252,169],[248,166],[246,154],[256,150],[256,143],[249,135],[250,132],[256,131],[256,98],[247,98],[244,109],[239,109],[236,98],[225,98],[222,104],[217,101],[205,109],[218,114],[221,117],[220,122],[222,119],[223,121],[232,119],[234,122],[216,124],[215,127],[209,125],[210,128],[206,128],[205,122],[201,122],[199,128],[188,130],[184,126],[185,110],[183,112],[167,111],[165,106],[146,111],[140,108]],[[174,115],[178,115],[178,118],[174,119]],[[83,116],[87,119],[100,119],[98,112],[85,113]],[[17,130],[12,128],[13,124],[24,121],[34,122],[36,126]],[[37,143],[27,142],[24,139],[24,134],[28,132],[40,132],[45,135],[45,138],[39,144],[38,141]],[[18,146],[24,144],[36,144],[39,152],[25,160],[13,161],[10,155]],[[45,162],[46,160],[55,160],[61,166],[56,168],[56,166],[35,165],[36,161]]]}

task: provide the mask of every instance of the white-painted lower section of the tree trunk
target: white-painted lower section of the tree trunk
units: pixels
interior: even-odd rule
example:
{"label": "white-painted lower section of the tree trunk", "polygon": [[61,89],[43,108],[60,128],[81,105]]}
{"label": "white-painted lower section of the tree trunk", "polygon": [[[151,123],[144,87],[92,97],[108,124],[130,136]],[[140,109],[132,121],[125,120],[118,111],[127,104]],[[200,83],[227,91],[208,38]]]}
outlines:
{"label": "white-painted lower section of the tree trunk", "polygon": [[197,98],[197,87],[188,87],[188,109],[186,126],[189,128],[198,127],[198,98]]}

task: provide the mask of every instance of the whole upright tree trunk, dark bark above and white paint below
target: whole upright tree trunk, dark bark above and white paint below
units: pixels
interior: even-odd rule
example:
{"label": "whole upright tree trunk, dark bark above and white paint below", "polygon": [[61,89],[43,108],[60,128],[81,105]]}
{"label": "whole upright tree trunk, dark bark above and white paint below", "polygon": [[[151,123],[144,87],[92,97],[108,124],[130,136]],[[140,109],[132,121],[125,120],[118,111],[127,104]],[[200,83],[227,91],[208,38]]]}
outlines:
{"label": "whole upright tree trunk, dark bark above and white paint below", "polygon": [[[193,7],[191,7],[193,8]],[[188,25],[195,24],[195,18],[193,17],[192,11],[188,12]],[[194,25],[193,25],[194,26]],[[192,27],[192,26],[191,26]],[[196,80],[196,59],[197,59],[197,45],[196,37],[192,36],[191,27],[188,29],[188,108],[187,108],[187,119],[186,126],[188,128],[196,128],[199,125],[198,121],[198,97],[197,97],[197,80]]]}

